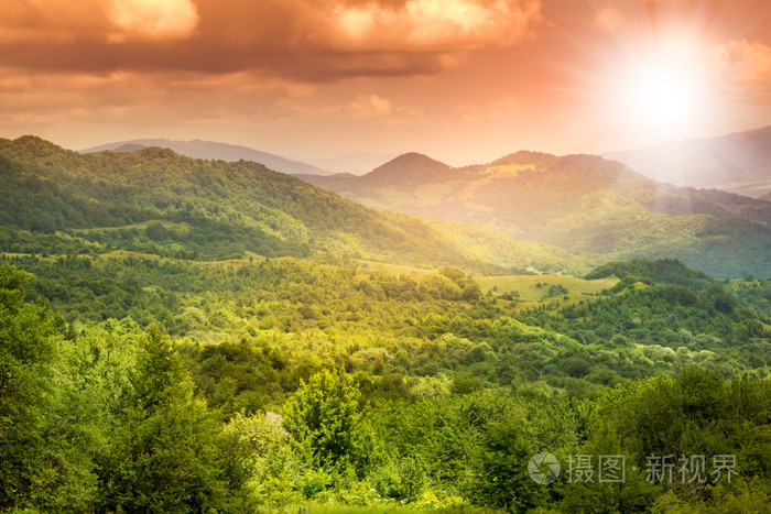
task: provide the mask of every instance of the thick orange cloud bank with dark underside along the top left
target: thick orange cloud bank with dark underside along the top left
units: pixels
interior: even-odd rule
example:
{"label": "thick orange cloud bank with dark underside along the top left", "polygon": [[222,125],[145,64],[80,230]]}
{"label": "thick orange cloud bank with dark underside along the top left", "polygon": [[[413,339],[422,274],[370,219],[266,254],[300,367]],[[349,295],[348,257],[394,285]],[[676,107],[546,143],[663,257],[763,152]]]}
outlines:
{"label": "thick orange cloud bank with dark underside along the top left", "polygon": [[[51,6],[51,4],[54,6]],[[540,0],[78,0],[11,2],[0,67],[107,74],[187,70],[325,81],[446,69],[513,45]]]}

